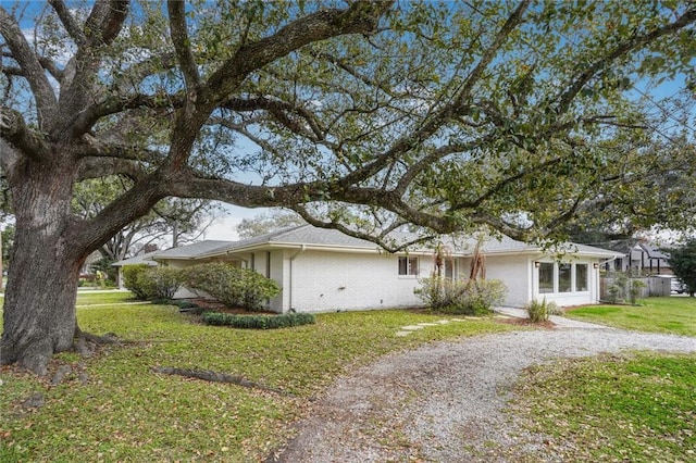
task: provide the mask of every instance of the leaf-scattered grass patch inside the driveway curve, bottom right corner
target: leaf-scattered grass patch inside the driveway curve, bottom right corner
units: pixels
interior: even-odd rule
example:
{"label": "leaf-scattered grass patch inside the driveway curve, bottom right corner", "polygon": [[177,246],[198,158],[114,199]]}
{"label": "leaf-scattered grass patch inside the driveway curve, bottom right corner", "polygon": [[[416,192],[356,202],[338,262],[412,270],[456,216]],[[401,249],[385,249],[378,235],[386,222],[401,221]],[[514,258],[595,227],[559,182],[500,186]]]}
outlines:
{"label": "leaf-scattered grass patch inside the driveway curve, bottom right corner", "polygon": [[530,370],[512,409],[561,461],[686,462],[695,391],[696,354],[566,360]]}

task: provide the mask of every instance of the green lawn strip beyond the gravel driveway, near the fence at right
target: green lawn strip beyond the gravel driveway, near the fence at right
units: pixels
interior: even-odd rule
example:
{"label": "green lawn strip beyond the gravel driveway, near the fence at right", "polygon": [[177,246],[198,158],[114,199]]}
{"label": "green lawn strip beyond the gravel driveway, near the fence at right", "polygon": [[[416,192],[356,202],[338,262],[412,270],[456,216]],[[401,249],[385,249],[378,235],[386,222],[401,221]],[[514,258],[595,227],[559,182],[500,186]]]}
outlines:
{"label": "green lawn strip beyond the gravel driveway, near the fence at right", "polygon": [[696,336],[696,298],[649,298],[639,302],[637,306],[585,306],[566,315],[624,329]]}

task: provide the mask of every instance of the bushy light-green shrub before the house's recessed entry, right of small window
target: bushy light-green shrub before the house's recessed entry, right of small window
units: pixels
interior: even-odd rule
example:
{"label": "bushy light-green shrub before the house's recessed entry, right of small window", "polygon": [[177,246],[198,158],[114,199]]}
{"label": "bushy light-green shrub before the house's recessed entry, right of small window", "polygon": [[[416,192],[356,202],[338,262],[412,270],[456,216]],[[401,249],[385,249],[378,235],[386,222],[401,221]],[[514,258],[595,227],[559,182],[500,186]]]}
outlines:
{"label": "bushy light-green shrub before the house's recessed entry, right of small window", "polygon": [[476,315],[505,301],[508,289],[498,279],[451,280],[432,277],[421,280],[417,293],[437,312]]}

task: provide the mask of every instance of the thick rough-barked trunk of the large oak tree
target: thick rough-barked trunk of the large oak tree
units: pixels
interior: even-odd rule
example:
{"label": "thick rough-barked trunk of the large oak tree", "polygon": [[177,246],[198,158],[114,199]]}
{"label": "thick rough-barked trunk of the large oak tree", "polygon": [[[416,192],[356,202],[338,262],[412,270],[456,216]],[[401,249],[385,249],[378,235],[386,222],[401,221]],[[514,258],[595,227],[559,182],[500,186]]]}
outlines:
{"label": "thick rough-barked trunk of the large oak tree", "polygon": [[[0,364],[44,375],[51,356],[72,348],[75,299],[86,251],[70,239],[70,175],[26,165],[12,178],[15,242],[4,300]],[[53,166],[53,172],[55,166]]]}

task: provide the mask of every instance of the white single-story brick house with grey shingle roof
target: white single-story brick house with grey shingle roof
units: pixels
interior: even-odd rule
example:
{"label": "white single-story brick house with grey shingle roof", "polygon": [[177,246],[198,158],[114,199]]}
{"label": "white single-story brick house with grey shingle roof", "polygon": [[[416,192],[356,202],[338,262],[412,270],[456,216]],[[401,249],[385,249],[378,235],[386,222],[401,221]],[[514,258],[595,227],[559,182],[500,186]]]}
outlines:
{"label": "white single-story brick house with grey shingle roof", "polygon": [[[449,243],[444,275],[468,277],[473,248],[473,240]],[[559,256],[510,238],[489,238],[482,247],[486,276],[508,287],[506,305],[543,298],[559,305],[598,302],[598,268],[620,254],[583,245],[562,248]],[[428,248],[390,254],[373,242],[303,225],[240,241],[201,241],[150,259],[173,267],[224,261],[252,268],[282,287],[270,310],[327,312],[422,305],[414,289],[419,278],[433,273],[433,253]]]}

